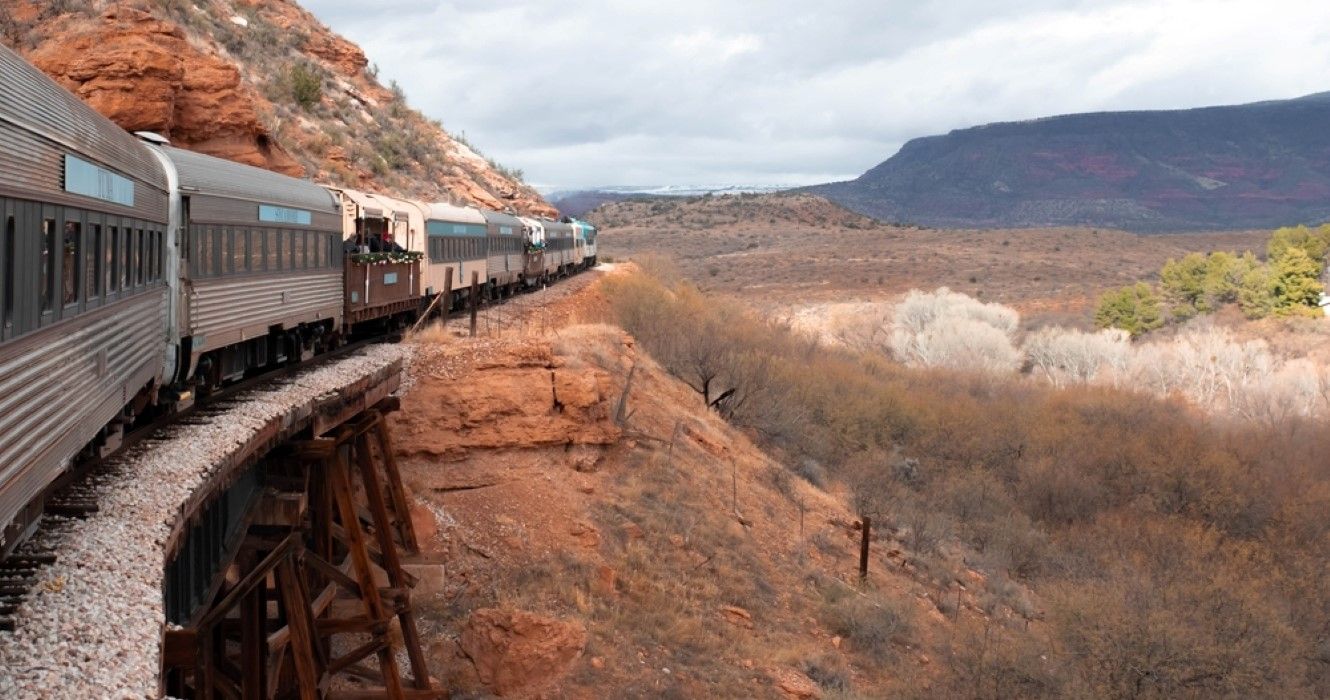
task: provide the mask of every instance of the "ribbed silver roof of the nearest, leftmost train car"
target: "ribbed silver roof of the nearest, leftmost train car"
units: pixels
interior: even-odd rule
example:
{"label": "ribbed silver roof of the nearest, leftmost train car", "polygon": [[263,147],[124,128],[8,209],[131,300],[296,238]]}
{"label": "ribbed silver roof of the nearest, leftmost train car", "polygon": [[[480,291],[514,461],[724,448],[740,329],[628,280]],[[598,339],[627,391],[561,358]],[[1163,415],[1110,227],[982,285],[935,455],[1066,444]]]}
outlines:
{"label": "ribbed silver roof of the nearest, leftmost train car", "polygon": [[[17,53],[0,45],[0,152],[27,160],[25,168],[0,168],[0,188],[63,189],[65,164],[31,162],[33,137],[57,144],[94,165],[166,190],[166,172],[142,142],[57,85]],[[3,162],[4,158],[0,158]],[[19,177],[40,169],[41,182]],[[49,176],[49,177],[47,177]],[[11,181],[13,180],[13,181]]]}

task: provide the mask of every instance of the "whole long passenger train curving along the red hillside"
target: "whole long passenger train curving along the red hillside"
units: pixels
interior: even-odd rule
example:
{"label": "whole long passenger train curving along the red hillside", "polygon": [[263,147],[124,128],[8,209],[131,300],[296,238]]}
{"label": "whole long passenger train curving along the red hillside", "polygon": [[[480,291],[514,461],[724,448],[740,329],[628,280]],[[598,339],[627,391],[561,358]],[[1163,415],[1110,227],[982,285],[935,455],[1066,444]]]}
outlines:
{"label": "whole long passenger train curving along the red hillside", "polygon": [[5,47],[0,225],[0,555],[70,464],[136,423],[592,267],[597,233],[130,134]]}

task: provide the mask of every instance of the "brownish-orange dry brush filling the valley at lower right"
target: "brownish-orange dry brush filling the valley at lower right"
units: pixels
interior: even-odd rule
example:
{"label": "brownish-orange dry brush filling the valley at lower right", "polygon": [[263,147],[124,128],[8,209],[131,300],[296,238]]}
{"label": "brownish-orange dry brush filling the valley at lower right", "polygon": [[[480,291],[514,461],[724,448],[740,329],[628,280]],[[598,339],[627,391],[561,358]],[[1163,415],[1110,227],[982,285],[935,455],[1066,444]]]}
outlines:
{"label": "brownish-orange dry brush filling the valley at lower right", "polygon": [[[717,413],[781,462],[815,462],[845,484],[846,500],[899,543],[900,566],[931,583],[934,612],[963,612],[946,640],[915,637],[943,663],[895,669],[915,672],[896,689],[1330,692],[1330,531],[1306,515],[1314,502],[1330,506],[1323,421],[1217,419],[1109,387],[907,369],[751,315],[738,322],[742,307],[697,294],[645,277],[606,289],[625,327],[700,395],[758,397]],[[697,377],[712,377],[709,387]],[[825,624],[857,653],[902,628],[868,615],[876,604],[839,604]]]}

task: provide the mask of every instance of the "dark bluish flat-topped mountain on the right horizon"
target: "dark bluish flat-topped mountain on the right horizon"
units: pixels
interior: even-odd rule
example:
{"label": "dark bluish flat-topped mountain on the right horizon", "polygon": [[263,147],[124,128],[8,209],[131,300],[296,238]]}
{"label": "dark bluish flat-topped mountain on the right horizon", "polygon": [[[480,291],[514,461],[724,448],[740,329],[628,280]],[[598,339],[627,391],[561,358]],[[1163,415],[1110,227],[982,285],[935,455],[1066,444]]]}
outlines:
{"label": "dark bluish flat-topped mountain on the right horizon", "polygon": [[1330,220],[1330,93],[990,124],[915,138],[858,180],[811,188],[944,228],[1233,230]]}

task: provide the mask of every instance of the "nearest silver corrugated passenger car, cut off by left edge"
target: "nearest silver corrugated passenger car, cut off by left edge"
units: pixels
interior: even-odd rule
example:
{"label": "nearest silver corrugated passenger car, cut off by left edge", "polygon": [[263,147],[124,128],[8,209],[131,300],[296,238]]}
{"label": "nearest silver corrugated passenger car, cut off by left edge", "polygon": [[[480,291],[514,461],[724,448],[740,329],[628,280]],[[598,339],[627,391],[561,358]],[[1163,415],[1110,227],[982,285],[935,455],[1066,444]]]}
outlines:
{"label": "nearest silver corrugated passenger car, cut off by left edge", "polygon": [[0,47],[0,552],[174,371],[168,234],[152,152]]}

